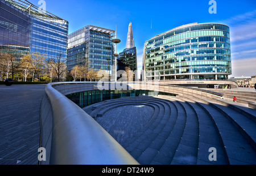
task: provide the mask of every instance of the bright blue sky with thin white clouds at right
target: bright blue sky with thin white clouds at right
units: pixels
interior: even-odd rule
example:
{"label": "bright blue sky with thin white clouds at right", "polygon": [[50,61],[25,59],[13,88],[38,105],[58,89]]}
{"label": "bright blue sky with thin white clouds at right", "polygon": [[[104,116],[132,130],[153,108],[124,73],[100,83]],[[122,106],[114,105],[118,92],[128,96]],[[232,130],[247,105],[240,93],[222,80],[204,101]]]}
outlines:
{"label": "bright blue sky with thin white clouds at right", "polygon": [[[39,0],[28,0],[38,5]],[[188,23],[223,23],[230,27],[232,76],[256,75],[256,1],[216,0],[217,14],[209,14],[209,0],[45,0],[46,10],[68,20],[69,33],[85,27],[114,29],[125,49],[128,26],[133,24],[138,67],[144,42],[151,37]],[[38,5],[39,6],[39,5]]]}

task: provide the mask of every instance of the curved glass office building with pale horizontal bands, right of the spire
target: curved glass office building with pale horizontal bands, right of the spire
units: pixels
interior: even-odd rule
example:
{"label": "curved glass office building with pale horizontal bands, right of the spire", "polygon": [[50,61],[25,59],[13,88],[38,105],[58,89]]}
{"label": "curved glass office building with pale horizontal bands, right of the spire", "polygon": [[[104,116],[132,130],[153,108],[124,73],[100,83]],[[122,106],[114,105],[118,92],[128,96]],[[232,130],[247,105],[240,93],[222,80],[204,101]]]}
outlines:
{"label": "curved glass office building with pale horizontal bands, right of the spire", "polygon": [[144,44],[143,79],[218,79],[232,74],[229,27],[192,23],[157,35]]}

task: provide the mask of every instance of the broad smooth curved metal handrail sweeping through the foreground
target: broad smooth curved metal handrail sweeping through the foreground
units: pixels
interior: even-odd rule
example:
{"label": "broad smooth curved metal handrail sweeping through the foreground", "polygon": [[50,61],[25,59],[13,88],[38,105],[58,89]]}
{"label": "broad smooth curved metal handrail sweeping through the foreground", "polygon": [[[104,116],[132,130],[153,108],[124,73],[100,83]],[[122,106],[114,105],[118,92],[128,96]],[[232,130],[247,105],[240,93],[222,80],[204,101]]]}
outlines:
{"label": "broad smooth curved metal handrail sweeping through the foreground", "polygon": [[57,84],[46,85],[53,113],[49,164],[139,164],[90,115],[52,87]]}

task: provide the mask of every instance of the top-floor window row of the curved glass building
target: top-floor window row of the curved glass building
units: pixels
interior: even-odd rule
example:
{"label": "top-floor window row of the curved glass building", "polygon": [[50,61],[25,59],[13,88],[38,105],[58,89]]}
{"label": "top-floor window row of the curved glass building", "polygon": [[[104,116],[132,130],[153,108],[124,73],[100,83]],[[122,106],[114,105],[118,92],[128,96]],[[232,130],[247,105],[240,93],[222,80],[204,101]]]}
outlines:
{"label": "top-floor window row of the curved glass building", "polygon": [[229,32],[229,27],[226,25],[222,25],[222,24],[196,24],[196,25],[176,29],[174,31],[167,32],[164,35],[160,35],[158,37],[152,38],[151,40],[146,41],[146,45],[163,40],[164,38],[168,38],[168,37],[171,37],[174,35],[179,35],[180,33],[199,31],[199,30],[207,30],[207,29],[221,30],[221,31]]}

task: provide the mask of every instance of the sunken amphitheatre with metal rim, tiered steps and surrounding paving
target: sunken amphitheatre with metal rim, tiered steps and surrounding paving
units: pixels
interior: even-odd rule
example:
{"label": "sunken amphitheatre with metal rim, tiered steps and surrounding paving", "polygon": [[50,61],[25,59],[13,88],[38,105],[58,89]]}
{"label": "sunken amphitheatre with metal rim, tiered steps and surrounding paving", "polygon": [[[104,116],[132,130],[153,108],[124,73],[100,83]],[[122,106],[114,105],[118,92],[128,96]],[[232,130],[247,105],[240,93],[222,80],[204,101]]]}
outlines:
{"label": "sunken amphitheatre with metal rim, tiered steps and surrounding paving", "polygon": [[225,84],[1,85],[0,164],[254,165],[256,90]]}

